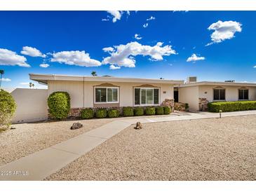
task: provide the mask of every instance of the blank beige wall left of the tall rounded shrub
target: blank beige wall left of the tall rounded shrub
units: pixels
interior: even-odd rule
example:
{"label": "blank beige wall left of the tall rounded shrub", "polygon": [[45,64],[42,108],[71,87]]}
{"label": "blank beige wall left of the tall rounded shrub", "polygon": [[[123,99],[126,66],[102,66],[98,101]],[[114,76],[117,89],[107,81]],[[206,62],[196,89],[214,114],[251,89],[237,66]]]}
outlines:
{"label": "blank beige wall left of the tall rounded shrub", "polygon": [[17,104],[13,123],[43,121],[48,117],[47,90],[16,88],[11,92]]}

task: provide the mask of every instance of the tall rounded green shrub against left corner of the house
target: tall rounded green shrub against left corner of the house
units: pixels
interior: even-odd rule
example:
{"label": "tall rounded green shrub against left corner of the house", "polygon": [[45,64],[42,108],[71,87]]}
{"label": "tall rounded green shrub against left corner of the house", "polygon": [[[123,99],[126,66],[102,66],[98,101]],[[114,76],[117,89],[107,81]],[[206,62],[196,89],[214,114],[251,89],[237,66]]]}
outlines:
{"label": "tall rounded green shrub against left corner of the house", "polygon": [[55,119],[65,119],[70,111],[70,97],[67,92],[53,92],[48,97],[50,116]]}

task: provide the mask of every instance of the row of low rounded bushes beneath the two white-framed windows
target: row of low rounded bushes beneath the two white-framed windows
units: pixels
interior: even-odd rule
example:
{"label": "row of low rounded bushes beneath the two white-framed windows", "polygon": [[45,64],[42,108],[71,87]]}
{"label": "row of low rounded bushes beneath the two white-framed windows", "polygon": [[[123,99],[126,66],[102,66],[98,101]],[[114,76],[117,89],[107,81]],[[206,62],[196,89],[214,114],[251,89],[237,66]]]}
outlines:
{"label": "row of low rounded bushes beneath the two white-framed windows", "polygon": [[[123,107],[123,116],[143,116],[143,115],[151,116],[151,115],[163,115],[170,114],[170,107]],[[83,109],[81,110],[81,118],[89,119],[89,118],[116,118],[119,117],[120,111],[118,109]]]}

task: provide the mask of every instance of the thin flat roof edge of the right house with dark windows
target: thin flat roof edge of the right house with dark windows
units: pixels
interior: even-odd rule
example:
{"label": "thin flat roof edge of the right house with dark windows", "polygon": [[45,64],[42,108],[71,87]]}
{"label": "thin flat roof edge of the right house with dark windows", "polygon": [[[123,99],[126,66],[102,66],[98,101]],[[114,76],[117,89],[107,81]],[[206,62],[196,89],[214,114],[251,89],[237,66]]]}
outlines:
{"label": "thin flat roof edge of the right house with dark windows", "polygon": [[199,81],[195,83],[185,83],[180,85],[183,87],[191,87],[191,86],[201,86],[201,85],[231,85],[231,86],[256,86],[256,83],[247,83],[247,82],[220,82],[220,81]]}

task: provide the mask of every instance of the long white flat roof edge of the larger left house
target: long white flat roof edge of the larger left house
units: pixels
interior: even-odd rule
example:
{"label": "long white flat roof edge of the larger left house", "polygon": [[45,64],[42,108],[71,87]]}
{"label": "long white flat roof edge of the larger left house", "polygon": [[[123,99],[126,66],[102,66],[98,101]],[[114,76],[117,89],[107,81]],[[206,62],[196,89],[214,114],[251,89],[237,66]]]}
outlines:
{"label": "long white flat roof edge of the larger left house", "polygon": [[123,83],[163,83],[183,84],[182,80],[168,80],[156,78],[126,78],[113,76],[68,76],[55,74],[29,74],[29,78],[39,83],[48,84],[48,81],[100,81],[100,82],[123,82]]}

